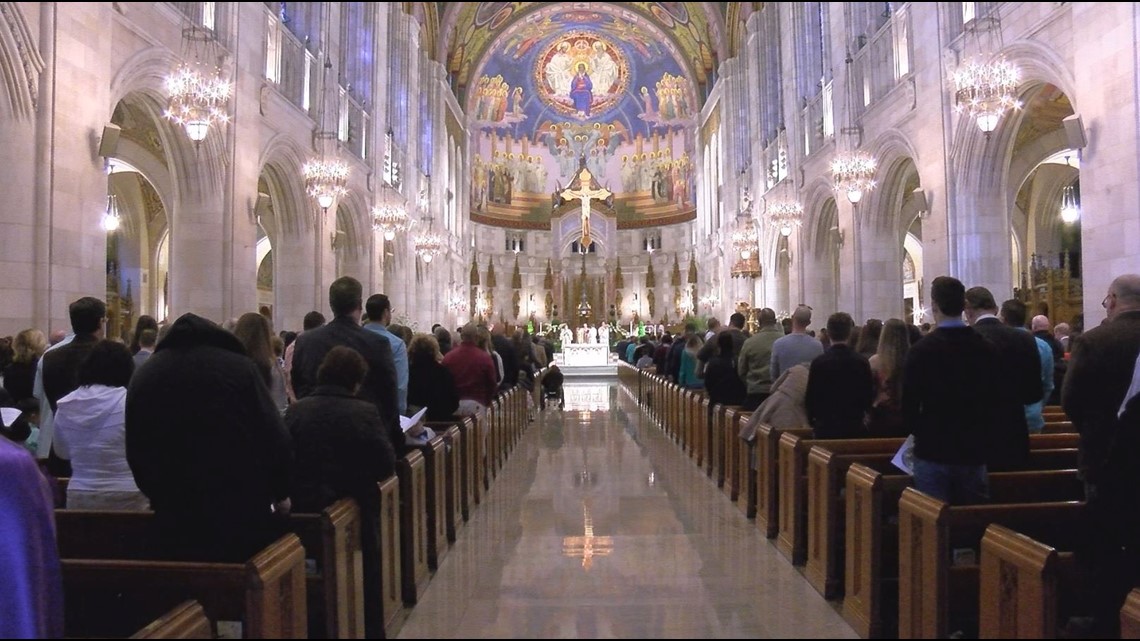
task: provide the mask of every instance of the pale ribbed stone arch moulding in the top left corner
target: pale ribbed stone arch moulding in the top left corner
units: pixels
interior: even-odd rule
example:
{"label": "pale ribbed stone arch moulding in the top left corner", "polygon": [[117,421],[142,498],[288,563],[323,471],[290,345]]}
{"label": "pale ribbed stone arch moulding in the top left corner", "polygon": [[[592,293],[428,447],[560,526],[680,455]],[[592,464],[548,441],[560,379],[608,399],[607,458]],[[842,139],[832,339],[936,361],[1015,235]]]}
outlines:
{"label": "pale ribbed stone arch moulding in the top left corner", "polygon": [[43,58],[18,2],[0,2],[0,120],[35,114]]}

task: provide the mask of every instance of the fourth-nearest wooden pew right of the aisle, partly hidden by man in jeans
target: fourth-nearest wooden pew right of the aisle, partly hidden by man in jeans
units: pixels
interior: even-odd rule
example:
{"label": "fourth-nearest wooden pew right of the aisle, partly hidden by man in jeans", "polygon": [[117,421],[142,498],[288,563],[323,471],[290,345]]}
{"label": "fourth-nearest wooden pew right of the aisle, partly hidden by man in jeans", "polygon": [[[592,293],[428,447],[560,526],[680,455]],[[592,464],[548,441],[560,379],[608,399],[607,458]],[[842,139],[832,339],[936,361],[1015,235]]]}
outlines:
{"label": "fourth-nearest wooden pew right of the aisle, partly hidden by man in jeans", "polygon": [[[1075,443],[1076,435],[1034,435],[1031,447]],[[1042,461],[1049,462],[1049,457]],[[890,463],[853,463],[847,471],[842,615],[864,638],[897,635],[898,500],[913,478]],[[993,472],[992,500],[1018,503],[1045,494],[1080,498],[1081,485],[1072,470]]]}

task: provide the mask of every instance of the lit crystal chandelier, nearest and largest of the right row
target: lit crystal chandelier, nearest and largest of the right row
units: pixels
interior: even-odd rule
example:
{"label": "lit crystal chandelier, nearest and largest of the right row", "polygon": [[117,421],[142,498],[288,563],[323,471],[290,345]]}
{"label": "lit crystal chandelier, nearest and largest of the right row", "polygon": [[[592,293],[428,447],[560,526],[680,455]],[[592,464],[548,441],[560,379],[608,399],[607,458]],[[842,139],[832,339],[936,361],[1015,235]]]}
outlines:
{"label": "lit crystal chandelier, nearest and largest of the right row", "polygon": [[1018,68],[1003,57],[966,63],[954,72],[954,111],[972,117],[988,136],[1007,111],[1021,107],[1017,99],[1019,80]]}

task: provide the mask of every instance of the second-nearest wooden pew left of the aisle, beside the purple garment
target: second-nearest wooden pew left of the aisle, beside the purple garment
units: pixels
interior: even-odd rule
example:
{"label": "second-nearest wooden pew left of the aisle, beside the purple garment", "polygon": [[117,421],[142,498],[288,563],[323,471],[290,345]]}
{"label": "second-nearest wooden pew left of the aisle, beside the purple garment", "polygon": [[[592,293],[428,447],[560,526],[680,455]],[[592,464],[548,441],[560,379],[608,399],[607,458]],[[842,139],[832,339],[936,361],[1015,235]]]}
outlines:
{"label": "second-nearest wooden pew left of the aisle, beside the purple garment", "polygon": [[127,636],[188,599],[210,620],[242,622],[244,639],[307,634],[304,549],[294,534],[244,563],[64,558],[60,566],[67,636]]}

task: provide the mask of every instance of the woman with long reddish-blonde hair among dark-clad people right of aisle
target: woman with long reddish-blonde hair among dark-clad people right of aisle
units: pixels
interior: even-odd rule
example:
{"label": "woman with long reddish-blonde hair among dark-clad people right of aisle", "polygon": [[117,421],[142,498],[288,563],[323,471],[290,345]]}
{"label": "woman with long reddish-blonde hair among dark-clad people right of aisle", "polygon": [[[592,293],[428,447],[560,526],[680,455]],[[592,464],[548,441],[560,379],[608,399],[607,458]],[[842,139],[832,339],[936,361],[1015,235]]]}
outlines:
{"label": "woman with long reddish-blonde hair among dark-clad people right of aisle", "polygon": [[906,436],[910,431],[903,424],[902,406],[903,365],[911,347],[906,323],[898,318],[883,323],[878,342],[876,354],[871,356],[876,397],[864,424],[872,437]]}

